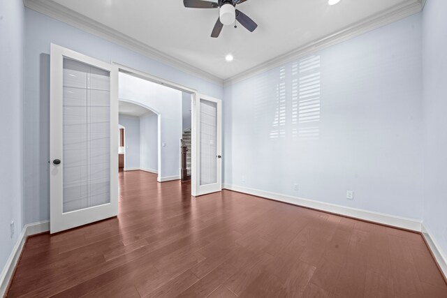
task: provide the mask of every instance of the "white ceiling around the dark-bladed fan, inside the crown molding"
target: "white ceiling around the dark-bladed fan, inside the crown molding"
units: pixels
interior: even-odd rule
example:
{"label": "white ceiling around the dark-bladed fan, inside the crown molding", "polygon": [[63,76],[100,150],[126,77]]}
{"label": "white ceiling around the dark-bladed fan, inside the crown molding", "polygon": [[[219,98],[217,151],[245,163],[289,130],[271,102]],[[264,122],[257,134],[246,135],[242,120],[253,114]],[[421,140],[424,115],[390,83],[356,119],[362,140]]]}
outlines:
{"label": "white ceiling around the dark-bladed fan, inside the crown molding", "polygon": [[[237,8],[258,29],[250,33],[242,25],[228,26],[219,38],[210,38],[219,10],[184,8],[182,0],[53,1],[226,80],[362,21],[379,20],[386,12],[402,13],[416,3],[421,6],[425,0],[341,0],[335,6],[328,0],[248,0]],[[235,57],[233,62],[225,61],[228,53]]]}

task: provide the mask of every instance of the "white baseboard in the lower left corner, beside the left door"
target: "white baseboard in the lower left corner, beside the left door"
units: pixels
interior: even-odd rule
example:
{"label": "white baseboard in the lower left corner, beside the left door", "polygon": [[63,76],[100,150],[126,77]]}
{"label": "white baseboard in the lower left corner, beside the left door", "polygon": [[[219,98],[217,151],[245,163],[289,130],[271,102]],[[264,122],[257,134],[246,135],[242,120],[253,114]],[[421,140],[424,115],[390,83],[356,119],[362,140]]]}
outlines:
{"label": "white baseboard in the lower left corner, beside the left door", "polygon": [[5,267],[3,267],[3,270],[1,271],[0,297],[3,297],[5,295],[10,279],[13,276],[15,265],[17,265],[17,262],[20,258],[20,254],[22,253],[23,246],[27,241],[27,237],[33,234],[47,232],[49,230],[50,230],[50,221],[29,223],[28,225],[25,225],[23,227],[22,232],[20,233],[19,238],[17,239],[17,243],[13,247],[13,251],[11,251],[9,258],[6,261]]}

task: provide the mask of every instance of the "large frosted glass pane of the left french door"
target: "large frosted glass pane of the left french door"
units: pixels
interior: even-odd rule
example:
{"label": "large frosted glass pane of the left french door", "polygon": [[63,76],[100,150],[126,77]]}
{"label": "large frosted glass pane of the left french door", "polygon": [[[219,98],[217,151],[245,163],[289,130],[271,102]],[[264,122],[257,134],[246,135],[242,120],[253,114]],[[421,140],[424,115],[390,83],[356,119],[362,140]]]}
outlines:
{"label": "large frosted glass pane of the left french door", "polygon": [[110,73],[64,58],[63,212],[110,202]]}

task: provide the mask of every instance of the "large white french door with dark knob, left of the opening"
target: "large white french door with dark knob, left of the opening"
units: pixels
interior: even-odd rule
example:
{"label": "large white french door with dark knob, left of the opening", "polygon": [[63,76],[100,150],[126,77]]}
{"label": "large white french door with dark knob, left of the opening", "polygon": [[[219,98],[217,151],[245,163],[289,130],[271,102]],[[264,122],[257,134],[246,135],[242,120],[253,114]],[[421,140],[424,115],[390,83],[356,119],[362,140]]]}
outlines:
{"label": "large white french door with dark knob, left of the opening", "polygon": [[118,214],[117,68],[51,45],[50,232]]}

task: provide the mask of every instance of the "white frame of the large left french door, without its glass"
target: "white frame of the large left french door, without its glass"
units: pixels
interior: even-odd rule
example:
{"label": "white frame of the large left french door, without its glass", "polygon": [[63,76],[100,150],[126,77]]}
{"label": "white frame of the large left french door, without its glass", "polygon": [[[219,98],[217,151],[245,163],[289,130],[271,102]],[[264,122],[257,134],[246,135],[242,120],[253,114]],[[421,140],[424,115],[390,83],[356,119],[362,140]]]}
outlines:
{"label": "white frame of the large left french door, without its glass", "polygon": [[[54,233],[118,215],[118,68],[59,45],[50,47],[50,232]],[[62,172],[64,57],[110,72],[110,202],[66,213]],[[55,159],[62,163],[54,165]]]}

